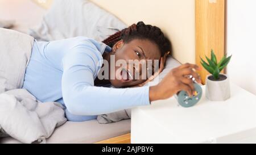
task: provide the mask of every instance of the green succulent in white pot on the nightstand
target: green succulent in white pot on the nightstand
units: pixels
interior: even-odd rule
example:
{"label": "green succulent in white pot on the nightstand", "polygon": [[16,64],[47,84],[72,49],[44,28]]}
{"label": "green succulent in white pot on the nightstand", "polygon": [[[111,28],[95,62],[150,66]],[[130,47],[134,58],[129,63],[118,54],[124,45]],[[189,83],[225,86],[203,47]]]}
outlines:
{"label": "green succulent in white pot on the nightstand", "polygon": [[228,58],[224,56],[220,62],[217,62],[216,55],[213,50],[211,58],[207,56],[207,62],[201,58],[201,65],[210,73],[206,78],[205,95],[212,101],[224,101],[230,98],[229,77],[226,74],[221,74],[221,71],[229,64],[232,56]]}

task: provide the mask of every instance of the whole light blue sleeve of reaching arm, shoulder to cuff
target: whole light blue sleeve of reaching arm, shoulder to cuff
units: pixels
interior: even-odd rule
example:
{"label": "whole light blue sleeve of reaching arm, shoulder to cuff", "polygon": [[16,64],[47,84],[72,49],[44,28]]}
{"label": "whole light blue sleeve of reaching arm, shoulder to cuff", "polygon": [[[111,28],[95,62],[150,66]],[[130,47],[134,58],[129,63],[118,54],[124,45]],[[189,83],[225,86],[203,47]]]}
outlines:
{"label": "whole light blue sleeve of reaching arm, shoulder to cuff", "polygon": [[62,60],[61,89],[68,111],[73,115],[108,114],[149,105],[149,86],[117,89],[94,86],[102,60],[95,45],[77,45]]}

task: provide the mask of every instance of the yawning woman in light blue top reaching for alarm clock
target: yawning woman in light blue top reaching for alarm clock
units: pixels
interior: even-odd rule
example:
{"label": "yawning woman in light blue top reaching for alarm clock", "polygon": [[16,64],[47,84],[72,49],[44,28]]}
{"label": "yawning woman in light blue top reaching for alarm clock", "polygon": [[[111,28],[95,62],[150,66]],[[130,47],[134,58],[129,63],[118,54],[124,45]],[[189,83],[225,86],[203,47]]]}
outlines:
{"label": "yawning woman in light blue top reaching for alarm clock", "polygon": [[[200,82],[195,72],[199,67],[193,64],[171,70],[156,86],[143,86],[162,72],[170,50],[171,43],[163,32],[143,22],[115,33],[103,43],[87,37],[35,41],[23,88],[42,102],[62,103],[67,107],[67,119],[77,122],[150,105],[180,90],[192,95],[194,87],[187,76]],[[115,88],[106,87],[110,85]]]}

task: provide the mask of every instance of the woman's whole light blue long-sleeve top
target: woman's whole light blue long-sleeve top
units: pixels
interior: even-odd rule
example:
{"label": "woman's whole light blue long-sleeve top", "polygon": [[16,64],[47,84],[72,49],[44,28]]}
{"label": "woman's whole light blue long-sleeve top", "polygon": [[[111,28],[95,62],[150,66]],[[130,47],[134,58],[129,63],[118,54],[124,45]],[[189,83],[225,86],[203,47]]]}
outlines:
{"label": "woman's whole light blue long-sleeve top", "polygon": [[88,37],[34,41],[23,88],[42,102],[63,104],[68,120],[150,104],[149,87],[117,89],[94,86],[102,54],[112,49]]}

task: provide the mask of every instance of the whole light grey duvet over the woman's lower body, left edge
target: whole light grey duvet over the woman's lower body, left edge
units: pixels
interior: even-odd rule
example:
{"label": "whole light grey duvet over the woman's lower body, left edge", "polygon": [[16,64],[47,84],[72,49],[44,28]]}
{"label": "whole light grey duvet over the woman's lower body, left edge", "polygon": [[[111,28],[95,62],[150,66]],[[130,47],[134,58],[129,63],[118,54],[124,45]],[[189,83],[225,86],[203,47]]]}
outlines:
{"label": "whole light grey duvet over the woman's lower body, left edge", "polygon": [[20,89],[33,43],[31,36],[0,28],[0,135],[22,143],[47,139],[67,121],[60,103],[40,103]]}

